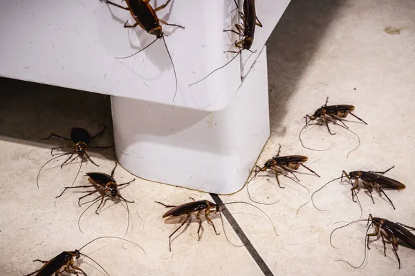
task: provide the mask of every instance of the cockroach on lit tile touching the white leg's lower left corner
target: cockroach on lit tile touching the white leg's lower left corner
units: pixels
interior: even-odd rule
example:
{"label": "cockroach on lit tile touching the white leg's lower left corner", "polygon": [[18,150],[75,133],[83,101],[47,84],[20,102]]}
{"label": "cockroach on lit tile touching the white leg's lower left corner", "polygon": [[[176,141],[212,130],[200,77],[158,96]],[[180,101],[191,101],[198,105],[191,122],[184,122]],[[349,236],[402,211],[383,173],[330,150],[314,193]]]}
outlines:
{"label": "cockroach on lit tile touching the white leg's lower left corner", "polygon": [[[117,164],[118,164],[118,162],[116,162],[116,166],[113,168],[113,170],[111,172],[111,175],[107,175],[104,172],[88,172],[88,173],[86,173],[86,175],[89,176],[89,179],[90,179],[90,181],[91,181],[91,183],[93,185],[64,187],[64,190],[62,191],[62,193],[56,197],[56,198],[61,197],[65,193],[65,190],[66,189],[90,188],[90,187],[96,188],[95,190],[88,190],[88,191],[86,191],[86,193],[88,193],[88,194],[87,195],[84,195],[84,196],[82,196],[82,197],[80,197],[78,199],[78,205],[81,206],[81,199],[83,199],[84,197],[88,197],[89,195],[93,195],[94,193],[98,193],[98,192],[100,192],[102,194],[100,198],[98,198],[97,200],[93,201],[93,203],[88,208],[86,208],[84,210],[84,212],[82,212],[82,214],[80,215],[80,218],[78,219],[78,227],[80,227],[80,219],[81,219],[82,215],[84,215],[84,213],[86,212],[86,210],[88,210],[95,203],[97,203],[98,201],[101,201],[100,202],[100,205],[95,210],[95,214],[99,215],[98,210],[102,206],[102,203],[104,202],[104,198],[106,198],[106,197],[112,197],[113,199],[115,199],[116,197],[119,197],[120,199],[122,199],[125,202],[125,205],[127,206],[128,222],[127,222],[127,230],[125,230],[125,235],[127,235],[128,228],[129,228],[129,208],[128,208],[128,203],[133,204],[134,201],[129,201],[127,199],[124,199],[124,197],[122,197],[120,195],[120,192],[118,191],[118,188],[130,184],[132,181],[134,181],[136,179],[133,179],[133,180],[131,180],[131,181],[127,182],[127,183],[124,183],[124,184],[117,184],[116,179],[113,178],[114,172],[115,172],[115,170],[117,168]],[[82,232],[82,230],[81,230],[81,232]],[[124,235],[124,237],[125,237],[125,235]]]}

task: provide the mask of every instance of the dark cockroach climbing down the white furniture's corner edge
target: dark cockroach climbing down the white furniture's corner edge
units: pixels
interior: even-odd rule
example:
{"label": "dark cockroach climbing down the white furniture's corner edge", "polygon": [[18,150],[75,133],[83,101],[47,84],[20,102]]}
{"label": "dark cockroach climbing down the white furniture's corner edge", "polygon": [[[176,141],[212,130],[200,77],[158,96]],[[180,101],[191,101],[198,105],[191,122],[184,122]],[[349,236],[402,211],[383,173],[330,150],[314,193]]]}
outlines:
{"label": "dark cockroach climbing down the white furniture's corner edge", "polygon": [[[234,3],[237,6],[237,9],[239,10],[239,6],[236,0],[234,0]],[[257,17],[257,11],[255,10],[255,0],[244,0],[243,1],[243,12],[241,12],[240,17],[243,21],[243,26],[236,24],[235,28],[237,28],[237,30],[223,30],[223,32],[234,32],[235,34],[238,34],[239,36],[242,37],[241,40],[235,41],[234,43],[234,47],[238,49],[237,51],[226,51],[226,52],[236,53],[237,55],[232,57],[232,59],[230,59],[230,61],[225,63],[225,65],[219,68],[216,68],[215,70],[210,72],[209,75],[207,75],[206,77],[204,77],[203,79],[199,81],[196,81],[195,83],[189,84],[189,86],[193,86],[194,84],[203,81],[204,79],[208,78],[210,75],[212,75],[217,70],[220,70],[224,68],[225,66],[227,66],[229,63],[231,63],[234,59],[236,59],[241,54],[242,50],[248,50],[252,52],[250,48],[252,46],[252,43],[254,42],[255,26],[259,26],[262,28],[262,23],[261,21],[259,21]],[[252,54],[255,52],[257,51],[255,50],[254,52],[252,52]]]}

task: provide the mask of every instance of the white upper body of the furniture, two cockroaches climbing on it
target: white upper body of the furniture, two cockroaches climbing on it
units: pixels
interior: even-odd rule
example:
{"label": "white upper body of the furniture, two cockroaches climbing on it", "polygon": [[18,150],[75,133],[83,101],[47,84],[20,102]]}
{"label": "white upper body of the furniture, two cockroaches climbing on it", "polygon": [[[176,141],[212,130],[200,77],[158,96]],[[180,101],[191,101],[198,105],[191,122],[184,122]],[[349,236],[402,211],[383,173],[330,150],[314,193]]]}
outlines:
{"label": "white upper body of the furniture, two cockroaches climbing on it", "polygon": [[[125,6],[125,3],[114,0]],[[264,28],[257,28],[253,49],[260,50],[284,11],[288,0],[257,1]],[[151,1],[153,7],[165,1]],[[157,12],[169,23],[162,40],[129,59],[126,57],[154,40],[140,27],[123,28],[133,21],[127,10],[100,1],[29,1],[0,3],[0,76],[46,83],[156,103],[220,110],[230,103],[241,84],[240,59],[192,87],[234,56],[237,34],[223,32],[237,20],[232,0],[172,1]],[[232,23],[232,18],[234,19]],[[249,53],[249,52],[248,52]],[[250,53],[249,53],[250,54]],[[257,55],[246,63],[246,75]],[[246,53],[243,53],[243,62]]]}

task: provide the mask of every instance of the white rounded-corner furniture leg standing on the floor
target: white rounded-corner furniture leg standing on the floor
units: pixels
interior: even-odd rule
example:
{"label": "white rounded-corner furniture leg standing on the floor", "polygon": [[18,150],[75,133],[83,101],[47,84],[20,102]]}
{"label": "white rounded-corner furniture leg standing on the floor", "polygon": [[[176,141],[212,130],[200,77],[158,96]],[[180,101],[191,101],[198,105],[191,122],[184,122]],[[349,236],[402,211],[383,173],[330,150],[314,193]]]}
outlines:
{"label": "white rounded-corner furniture leg standing on the floor", "polygon": [[270,135],[266,48],[223,110],[111,101],[117,159],[129,172],[210,193],[237,192]]}

